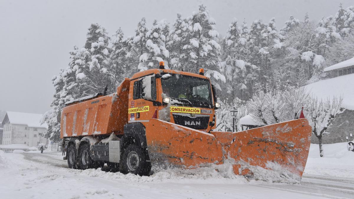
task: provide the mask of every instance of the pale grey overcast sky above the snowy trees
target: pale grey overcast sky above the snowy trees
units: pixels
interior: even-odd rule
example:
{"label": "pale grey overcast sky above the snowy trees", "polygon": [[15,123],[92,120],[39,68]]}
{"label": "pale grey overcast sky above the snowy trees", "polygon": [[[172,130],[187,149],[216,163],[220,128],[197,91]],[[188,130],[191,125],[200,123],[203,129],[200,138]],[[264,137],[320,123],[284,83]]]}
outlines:
{"label": "pale grey overcast sky above the snowy trees", "polygon": [[14,1],[0,0],[0,110],[44,113],[50,109],[53,75],[69,63],[74,45],[85,44],[87,28],[99,23],[112,35],[122,27],[133,35],[136,24],[147,18],[170,23],[177,12],[183,17],[204,4],[224,35],[232,18],[250,24],[275,17],[281,28],[290,15],[310,19],[335,15],[339,3],[346,8],[353,0],[150,0],[150,1]]}

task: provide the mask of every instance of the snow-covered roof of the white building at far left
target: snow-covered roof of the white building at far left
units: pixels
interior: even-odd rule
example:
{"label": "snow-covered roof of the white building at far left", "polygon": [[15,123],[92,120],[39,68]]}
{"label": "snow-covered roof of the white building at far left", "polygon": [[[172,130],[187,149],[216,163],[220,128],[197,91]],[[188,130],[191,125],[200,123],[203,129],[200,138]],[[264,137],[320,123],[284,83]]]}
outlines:
{"label": "snow-covered roof of the white building at far left", "polygon": [[47,124],[40,124],[42,116],[42,114],[7,111],[2,123],[4,124],[4,122],[8,120],[10,124],[22,124],[28,125],[29,127],[48,128]]}

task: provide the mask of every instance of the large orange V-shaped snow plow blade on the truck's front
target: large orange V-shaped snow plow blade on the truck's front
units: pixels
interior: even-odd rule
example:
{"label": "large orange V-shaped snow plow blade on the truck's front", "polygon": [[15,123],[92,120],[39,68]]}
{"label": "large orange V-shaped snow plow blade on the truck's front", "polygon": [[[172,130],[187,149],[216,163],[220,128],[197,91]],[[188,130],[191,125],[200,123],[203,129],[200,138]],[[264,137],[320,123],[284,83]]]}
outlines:
{"label": "large orange V-shaped snow plow blade on the truck's front", "polygon": [[150,119],[146,125],[153,170],[228,163],[236,175],[252,177],[259,172],[273,172],[301,180],[310,138],[307,119],[241,132],[205,133],[158,119]]}

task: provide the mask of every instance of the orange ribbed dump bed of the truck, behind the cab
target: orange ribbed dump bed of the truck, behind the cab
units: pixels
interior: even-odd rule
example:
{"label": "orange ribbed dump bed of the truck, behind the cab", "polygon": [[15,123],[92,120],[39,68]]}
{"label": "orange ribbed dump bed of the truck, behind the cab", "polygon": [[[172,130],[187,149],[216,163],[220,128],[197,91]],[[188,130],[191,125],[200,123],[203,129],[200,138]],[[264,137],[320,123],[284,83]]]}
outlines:
{"label": "orange ribbed dump bed of the truck, behind the cab", "polygon": [[127,124],[130,79],[126,78],[117,92],[76,102],[63,108],[60,136],[101,135],[114,132],[123,134]]}

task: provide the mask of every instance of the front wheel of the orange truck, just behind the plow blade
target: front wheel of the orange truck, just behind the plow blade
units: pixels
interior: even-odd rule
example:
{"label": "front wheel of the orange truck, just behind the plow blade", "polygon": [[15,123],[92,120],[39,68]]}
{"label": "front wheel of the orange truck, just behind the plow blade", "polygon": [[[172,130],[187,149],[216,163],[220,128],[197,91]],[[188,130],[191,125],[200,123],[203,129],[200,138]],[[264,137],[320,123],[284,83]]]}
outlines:
{"label": "front wheel of the orange truck, just behind the plow blade", "polygon": [[150,173],[151,164],[147,162],[147,157],[142,149],[136,144],[130,144],[124,149],[120,172],[123,174],[132,173],[145,176]]}

